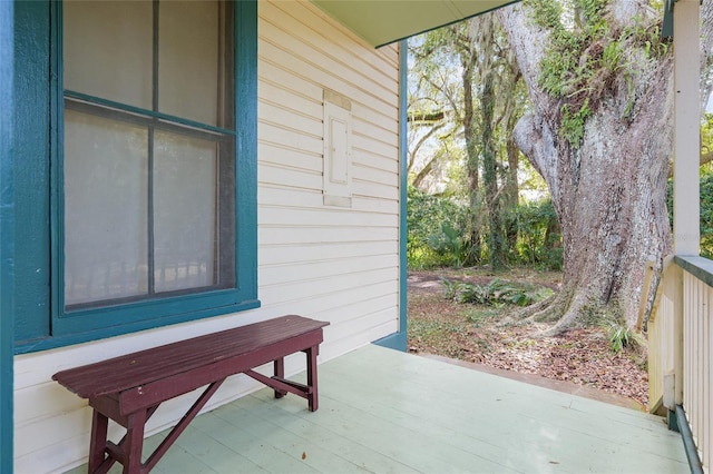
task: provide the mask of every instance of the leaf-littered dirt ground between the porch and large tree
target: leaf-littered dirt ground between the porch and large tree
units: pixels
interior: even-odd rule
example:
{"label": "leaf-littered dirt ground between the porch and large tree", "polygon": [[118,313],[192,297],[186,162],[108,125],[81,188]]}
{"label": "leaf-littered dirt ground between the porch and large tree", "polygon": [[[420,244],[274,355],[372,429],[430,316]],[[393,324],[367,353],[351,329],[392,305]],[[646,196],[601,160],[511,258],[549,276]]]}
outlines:
{"label": "leaf-littered dirt ground between the porch and large tree", "polygon": [[[492,308],[446,299],[440,277],[487,284],[476,270],[409,273],[409,350],[490,367],[572,382],[632,398],[646,406],[645,348],[614,353],[606,330],[590,327],[558,337],[533,337],[533,326],[501,325],[512,308]],[[500,279],[528,282],[557,290],[557,273],[516,270]]]}

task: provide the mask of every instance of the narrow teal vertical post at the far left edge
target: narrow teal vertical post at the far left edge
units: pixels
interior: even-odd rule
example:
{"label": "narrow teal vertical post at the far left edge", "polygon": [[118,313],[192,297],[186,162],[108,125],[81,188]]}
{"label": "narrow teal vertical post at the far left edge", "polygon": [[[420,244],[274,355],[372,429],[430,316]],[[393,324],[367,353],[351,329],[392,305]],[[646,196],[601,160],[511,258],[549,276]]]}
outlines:
{"label": "narrow teal vertical post at the far left edge", "polygon": [[13,464],[13,3],[0,1],[0,472]]}

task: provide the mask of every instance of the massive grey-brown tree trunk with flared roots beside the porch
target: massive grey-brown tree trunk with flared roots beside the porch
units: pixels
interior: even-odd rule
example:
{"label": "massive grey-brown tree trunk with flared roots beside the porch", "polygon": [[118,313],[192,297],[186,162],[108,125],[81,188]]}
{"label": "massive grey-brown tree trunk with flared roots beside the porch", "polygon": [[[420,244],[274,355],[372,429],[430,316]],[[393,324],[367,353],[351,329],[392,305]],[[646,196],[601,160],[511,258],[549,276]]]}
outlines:
{"label": "massive grey-brown tree trunk with flared roots beside the porch", "polygon": [[[645,1],[614,0],[608,21],[651,14]],[[545,178],[559,217],[564,286],[536,319],[566,330],[593,312],[636,318],[644,266],[671,248],[665,190],[672,144],[672,55],[646,58],[631,48],[627,75],[612,78],[584,127],[579,146],[560,139],[560,99],[539,85],[548,31],[525,4],[498,13],[525,77],[534,109],[514,138]],[[633,73],[632,73],[633,72]]]}

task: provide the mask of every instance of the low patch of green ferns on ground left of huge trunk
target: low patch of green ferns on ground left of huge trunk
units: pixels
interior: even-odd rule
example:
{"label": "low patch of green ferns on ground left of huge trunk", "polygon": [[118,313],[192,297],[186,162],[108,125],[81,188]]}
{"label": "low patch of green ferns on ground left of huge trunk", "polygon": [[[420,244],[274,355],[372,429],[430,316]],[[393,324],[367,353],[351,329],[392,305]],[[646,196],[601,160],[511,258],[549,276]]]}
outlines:
{"label": "low patch of green ferns on ground left of huge trunk", "polygon": [[488,285],[450,282],[441,278],[446,287],[446,297],[459,303],[499,306],[504,304],[528,306],[553,295],[553,290],[545,287],[504,282],[494,279]]}

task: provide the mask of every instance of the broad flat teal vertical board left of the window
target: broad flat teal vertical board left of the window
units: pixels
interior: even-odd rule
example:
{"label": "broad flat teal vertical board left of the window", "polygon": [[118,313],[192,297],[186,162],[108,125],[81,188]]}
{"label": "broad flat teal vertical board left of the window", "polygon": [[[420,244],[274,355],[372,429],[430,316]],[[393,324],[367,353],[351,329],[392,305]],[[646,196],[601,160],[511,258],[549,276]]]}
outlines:
{"label": "broad flat teal vertical board left of the window", "polygon": [[13,330],[22,344],[50,336],[50,3],[12,3]]}

